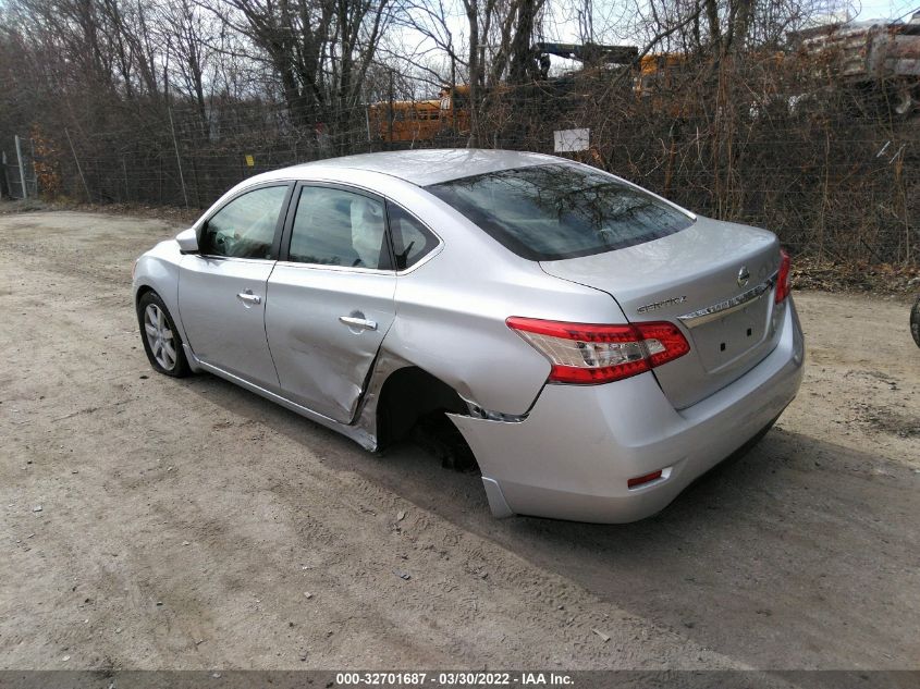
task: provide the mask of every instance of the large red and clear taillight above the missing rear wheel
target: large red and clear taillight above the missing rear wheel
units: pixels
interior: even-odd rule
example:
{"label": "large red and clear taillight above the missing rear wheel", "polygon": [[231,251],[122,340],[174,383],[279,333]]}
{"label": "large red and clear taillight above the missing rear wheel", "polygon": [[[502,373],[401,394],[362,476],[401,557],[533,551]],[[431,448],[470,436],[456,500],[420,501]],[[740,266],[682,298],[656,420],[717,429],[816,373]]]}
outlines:
{"label": "large red and clear taillight above the missing rear wheel", "polygon": [[609,383],[648,371],[690,350],[674,323],[604,325],[514,316],[507,325],[545,356],[555,383]]}

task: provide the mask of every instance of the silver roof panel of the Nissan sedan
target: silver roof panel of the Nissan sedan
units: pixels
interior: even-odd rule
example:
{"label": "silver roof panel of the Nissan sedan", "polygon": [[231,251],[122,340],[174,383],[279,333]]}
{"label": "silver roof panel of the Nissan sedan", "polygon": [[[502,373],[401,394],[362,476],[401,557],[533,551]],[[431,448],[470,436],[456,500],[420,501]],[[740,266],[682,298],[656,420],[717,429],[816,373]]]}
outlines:
{"label": "silver roof panel of the Nissan sedan", "polygon": [[511,150],[438,148],[330,158],[295,165],[287,170],[310,169],[311,172],[314,169],[317,172],[319,169],[368,170],[400,177],[418,186],[428,186],[495,170],[544,165],[553,162],[563,162],[563,160],[555,156]]}

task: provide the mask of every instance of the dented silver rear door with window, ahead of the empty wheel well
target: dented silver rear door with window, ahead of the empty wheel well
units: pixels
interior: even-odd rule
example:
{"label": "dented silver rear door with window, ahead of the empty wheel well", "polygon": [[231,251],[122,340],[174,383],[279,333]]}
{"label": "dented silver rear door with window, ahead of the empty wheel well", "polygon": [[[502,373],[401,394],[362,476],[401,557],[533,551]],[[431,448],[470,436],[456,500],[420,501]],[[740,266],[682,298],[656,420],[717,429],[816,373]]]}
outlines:
{"label": "dented silver rear door with window, ahead of the empty wheel well", "polygon": [[391,267],[381,198],[341,185],[298,186],[266,306],[286,397],[352,421],[395,316]]}

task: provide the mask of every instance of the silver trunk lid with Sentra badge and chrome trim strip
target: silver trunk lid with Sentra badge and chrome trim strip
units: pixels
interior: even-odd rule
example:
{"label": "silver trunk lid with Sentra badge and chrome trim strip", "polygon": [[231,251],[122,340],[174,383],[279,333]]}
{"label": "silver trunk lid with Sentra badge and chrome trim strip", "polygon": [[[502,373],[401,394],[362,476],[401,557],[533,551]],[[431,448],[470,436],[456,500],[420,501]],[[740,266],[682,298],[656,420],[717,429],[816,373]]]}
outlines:
{"label": "silver trunk lid with Sentra badge and chrome trim strip", "polygon": [[653,369],[677,409],[738,379],[778,340],[773,295],[780,244],[765,230],[698,218],[660,239],[540,266],[606,292],[631,322],[665,320],[680,328],[689,354]]}

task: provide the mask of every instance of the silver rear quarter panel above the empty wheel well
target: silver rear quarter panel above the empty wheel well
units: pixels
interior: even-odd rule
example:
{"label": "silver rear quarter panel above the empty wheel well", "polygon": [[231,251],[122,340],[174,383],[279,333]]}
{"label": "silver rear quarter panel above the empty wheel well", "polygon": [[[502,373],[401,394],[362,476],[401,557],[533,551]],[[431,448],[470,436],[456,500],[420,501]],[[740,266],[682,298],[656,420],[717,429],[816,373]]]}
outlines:
{"label": "silver rear quarter panel above the empty wheel well", "polygon": [[514,256],[458,214],[452,229],[456,236],[439,229],[444,239],[439,256],[397,276],[396,318],[383,347],[467,402],[526,415],[550,364],[505,320],[617,322],[623,313],[609,295],[547,275],[539,263]]}

